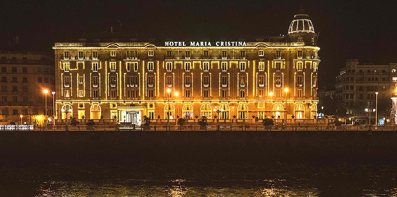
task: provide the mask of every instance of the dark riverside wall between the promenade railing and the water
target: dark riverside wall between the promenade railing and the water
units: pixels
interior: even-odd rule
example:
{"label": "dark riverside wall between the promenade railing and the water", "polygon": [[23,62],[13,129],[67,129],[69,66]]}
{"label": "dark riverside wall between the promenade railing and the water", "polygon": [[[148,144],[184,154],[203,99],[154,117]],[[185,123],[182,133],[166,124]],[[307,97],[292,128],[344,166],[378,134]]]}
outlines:
{"label": "dark riverside wall between the promenade railing and the water", "polygon": [[3,131],[2,164],[397,163],[397,131]]}

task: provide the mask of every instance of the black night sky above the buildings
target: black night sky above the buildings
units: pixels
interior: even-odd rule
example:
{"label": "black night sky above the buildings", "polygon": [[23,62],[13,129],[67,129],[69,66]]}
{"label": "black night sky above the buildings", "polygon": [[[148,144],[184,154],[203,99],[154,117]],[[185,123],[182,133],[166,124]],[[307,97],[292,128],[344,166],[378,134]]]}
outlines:
{"label": "black night sky above the buildings", "polygon": [[[397,1],[304,0],[319,33],[319,86],[332,86],[346,59],[397,62]],[[1,48],[18,35],[21,50],[52,54],[54,42],[114,31],[131,38],[213,40],[286,34],[301,0],[3,1]],[[146,40],[144,40],[146,41]]]}

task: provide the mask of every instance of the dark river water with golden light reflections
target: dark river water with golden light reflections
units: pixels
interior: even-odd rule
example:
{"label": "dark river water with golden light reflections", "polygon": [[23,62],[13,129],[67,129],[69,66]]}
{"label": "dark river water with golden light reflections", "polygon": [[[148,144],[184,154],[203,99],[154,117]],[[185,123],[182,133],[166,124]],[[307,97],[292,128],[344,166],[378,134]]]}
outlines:
{"label": "dark river water with golden light reflections", "polygon": [[397,164],[84,163],[0,166],[0,197],[397,197]]}

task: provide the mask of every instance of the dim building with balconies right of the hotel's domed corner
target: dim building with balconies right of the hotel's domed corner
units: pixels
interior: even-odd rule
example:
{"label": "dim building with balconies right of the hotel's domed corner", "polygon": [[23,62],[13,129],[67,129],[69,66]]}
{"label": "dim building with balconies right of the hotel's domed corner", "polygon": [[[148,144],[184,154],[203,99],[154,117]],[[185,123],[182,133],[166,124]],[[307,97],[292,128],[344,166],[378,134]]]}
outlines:
{"label": "dim building with balconies right of the hotel's domed corner", "polygon": [[[374,65],[360,64],[355,59],[346,60],[346,66],[336,76],[335,88],[336,96],[342,100],[347,116],[368,117],[364,109],[375,109],[376,97],[378,97],[378,115],[380,115],[378,117],[388,118],[390,113],[388,105],[392,103],[390,97],[396,91],[396,70],[396,63]],[[375,118],[375,113],[373,115]]]}

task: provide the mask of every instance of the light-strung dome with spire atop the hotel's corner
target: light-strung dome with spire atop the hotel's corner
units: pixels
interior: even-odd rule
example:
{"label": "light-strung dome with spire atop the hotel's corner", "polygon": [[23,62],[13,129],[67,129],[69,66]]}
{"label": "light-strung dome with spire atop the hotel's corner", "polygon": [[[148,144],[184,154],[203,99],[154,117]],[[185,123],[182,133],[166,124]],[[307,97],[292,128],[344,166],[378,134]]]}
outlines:
{"label": "light-strung dome with spire atop the hotel's corner", "polygon": [[294,20],[289,25],[288,34],[290,33],[315,33],[313,23],[302,7],[298,14],[294,15]]}

